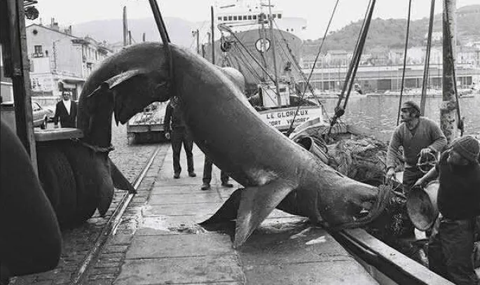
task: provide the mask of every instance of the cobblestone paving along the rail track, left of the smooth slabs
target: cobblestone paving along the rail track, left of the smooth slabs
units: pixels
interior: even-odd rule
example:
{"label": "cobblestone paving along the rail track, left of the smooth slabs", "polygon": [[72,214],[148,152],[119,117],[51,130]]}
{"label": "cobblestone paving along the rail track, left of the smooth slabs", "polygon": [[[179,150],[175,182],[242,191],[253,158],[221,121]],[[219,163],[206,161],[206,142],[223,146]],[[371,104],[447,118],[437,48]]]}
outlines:
{"label": "cobblestone paving along the rail track, left of the smooth slabs", "polygon": [[[165,156],[165,153],[170,144],[131,144],[128,145],[126,127],[124,125],[119,125],[118,127],[114,125],[112,127],[112,144],[115,146],[115,150],[110,153],[111,160],[117,165],[118,169],[123,172],[125,177],[133,183],[135,178],[140,174],[146,162],[148,162],[153,152],[160,145],[160,152],[158,157],[162,158]],[[149,182],[149,179],[144,179],[140,185],[140,188],[146,187]],[[142,191],[139,191],[142,193]],[[88,255],[90,249],[95,244],[97,238],[99,237],[104,225],[107,224],[111,214],[116,209],[118,203],[123,198],[123,195],[127,193],[122,190],[116,190],[114,195],[114,200],[111,204],[109,211],[107,211],[106,216],[101,217],[97,212],[95,215],[90,218],[87,222],[83,223],[78,228],[62,230],[62,256],[60,262],[55,268],[48,272],[43,272],[41,274],[32,274],[23,277],[16,277],[11,280],[10,284],[13,285],[23,285],[23,284],[41,284],[41,285],[50,285],[50,284],[71,284],[71,280],[75,278],[76,272],[78,272],[83,260]],[[135,200],[141,200],[142,197],[136,197]],[[135,201],[134,201],[135,202]],[[107,266],[104,269],[100,270],[103,277],[109,277],[110,275],[115,274],[115,270],[112,270],[108,265],[116,264],[118,261],[118,254],[116,254],[117,248],[111,249],[111,255],[107,256],[107,260],[102,260],[102,265]],[[93,277],[95,273],[98,275],[99,270],[92,270]],[[102,281],[102,279],[100,279]],[[88,282],[90,284],[90,282]],[[92,284],[99,284],[97,281],[94,281]],[[103,282],[100,282],[103,284]]]}

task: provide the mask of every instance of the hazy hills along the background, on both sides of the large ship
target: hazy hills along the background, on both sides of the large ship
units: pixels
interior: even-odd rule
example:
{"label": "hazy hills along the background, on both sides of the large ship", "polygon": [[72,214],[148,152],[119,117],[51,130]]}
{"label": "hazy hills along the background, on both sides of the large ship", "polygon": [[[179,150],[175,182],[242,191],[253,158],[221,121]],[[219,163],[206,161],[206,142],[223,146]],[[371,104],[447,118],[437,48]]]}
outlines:
{"label": "hazy hills along the background, on both sides of the large ship", "polygon": [[[458,43],[480,41],[480,5],[471,5],[457,10]],[[202,23],[189,22],[180,18],[165,18],[167,31],[173,43],[179,46],[192,47],[191,31],[198,29]],[[142,34],[146,34],[146,41],[160,41],[160,36],[153,18],[129,19],[129,29],[134,42],[142,41]],[[353,50],[359,34],[362,21],[352,22],[350,25],[337,31],[331,31],[322,50]],[[415,20],[410,25],[409,46],[425,45],[425,35],[428,29],[428,18]],[[99,20],[74,25],[76,36],[91,36],[97,41],[117,43],[122,41],[122,20]],[[404,48],[406,19],[372,20],[369,36],[365,43],[365,53],[373,49]],[[434,32],[441,32],[441,14],[435,15]],[[304,41],[303,55],[315,55],[321,39]]]}

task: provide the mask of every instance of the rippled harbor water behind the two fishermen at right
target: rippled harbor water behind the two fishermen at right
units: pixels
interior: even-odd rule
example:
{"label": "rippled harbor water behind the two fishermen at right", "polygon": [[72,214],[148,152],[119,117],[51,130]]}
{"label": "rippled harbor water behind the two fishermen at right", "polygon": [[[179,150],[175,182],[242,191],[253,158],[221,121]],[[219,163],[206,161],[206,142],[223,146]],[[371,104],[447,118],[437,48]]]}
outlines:
{"label": "rippled harbor water behind the two fishermen at right", "polygon": [[[369,130],[373,136],[382,141],[390,140],[397,125],[399,96],[367,95],[350,97],[341,117],[343,123],[357,125]],[[402,102],[413,100],[420,104],[419,96],[403,96]],[[334,115],[338,102],[336,98],[322,98],[328,115]],[[343,104],[343,103],[342,103]],[[441,97],[427,97],[425,116],[440,123]],[[480,134],[480,95],[474,97],[460,97],[461,116],[465,117],[465,134]],[[460,135],[460,132],[458,133]]]}

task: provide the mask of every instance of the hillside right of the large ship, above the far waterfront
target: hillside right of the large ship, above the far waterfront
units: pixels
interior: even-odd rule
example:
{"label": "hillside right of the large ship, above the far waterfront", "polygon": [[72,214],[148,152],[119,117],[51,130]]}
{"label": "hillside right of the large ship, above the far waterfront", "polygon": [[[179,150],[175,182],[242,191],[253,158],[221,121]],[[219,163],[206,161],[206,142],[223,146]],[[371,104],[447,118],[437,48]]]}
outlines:
{"label": "hillside right of the large ship, above the far waterfront", "polygon": [[[469,13],[480,11],[480,5],[458,8],[457,41],[458,44],[469,41],[480,41],[480,14]],[[428,18],[411,21],[409,46],[423,46],[426,43],[428,32]],[[350,25],[330,32],[322,50],[353,50],[358,38],[362,21],[352,22]],[[441,14],[434,16],[434,32],[441,32]],[[365,52],[373,48],[404,48],[406,34],[406,19],[380,18],[371,21],[369,35],[365,43]],[[322,39],[306,41],[303,54],[315,54]]]}

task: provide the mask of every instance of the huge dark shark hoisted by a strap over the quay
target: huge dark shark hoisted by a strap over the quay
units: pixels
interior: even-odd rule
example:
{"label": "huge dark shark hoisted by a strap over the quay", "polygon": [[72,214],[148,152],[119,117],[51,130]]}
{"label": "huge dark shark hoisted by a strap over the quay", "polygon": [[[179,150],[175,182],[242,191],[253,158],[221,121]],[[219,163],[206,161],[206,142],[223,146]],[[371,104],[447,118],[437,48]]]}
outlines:
{"label": "huge dark shark hoisted by a strap over the quay", "polygon": [[[362,226],[380,214],[387,192],[336,172],[264,123],[221,68],[183,48],[170,50],[174,74],[160,43],[140,43],[104,62],[84,91],[91,100],[114,100],[120,123],[151,102],[180,98],[198,147],[245,187],[206,221],[235,219],[233,246],[242,245],[275,207],[332,228]],[[89,122],[78,123],[88,130]]]}

